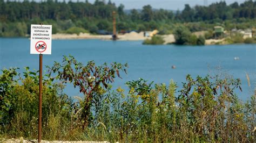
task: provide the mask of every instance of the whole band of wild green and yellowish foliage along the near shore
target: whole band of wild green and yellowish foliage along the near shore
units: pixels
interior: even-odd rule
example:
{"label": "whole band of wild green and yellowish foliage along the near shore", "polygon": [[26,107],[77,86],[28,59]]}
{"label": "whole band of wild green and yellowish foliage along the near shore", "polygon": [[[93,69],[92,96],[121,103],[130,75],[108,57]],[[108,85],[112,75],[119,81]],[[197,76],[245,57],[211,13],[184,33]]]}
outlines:
{"label": "whole band of wild green and yellowish foliage along the near shore", "polygon": [[[126,65],[86,66],[65,57],[43,81],[43,139],[108,141],[255,141],[255,96],[242,103],[234,93],[240,80],[187,75],[180,91],[169,85],[127,82],[129,92],[107,81]],[[37,138],[38,76],[26,68],[0,76],[0,131],[3,137]],[[93,74],[92,74],[93,73]],[[95,76],[95,77],[93,77]],[[18,79],[17,79],[18,78]],[[20,82],[21,81],[21,82]],[[63,93],[72,82],[84,94],[73,101]],[[90,94],[89,94],[90,92]],[[87,100],[89,98],[89,100]],[[86,107],[86,108],[85,108]],[[89,108],[88,108],[89,107]],[[86,110],[85,110],[86,109]],[[86,123],[86,124],[85,124]]]}

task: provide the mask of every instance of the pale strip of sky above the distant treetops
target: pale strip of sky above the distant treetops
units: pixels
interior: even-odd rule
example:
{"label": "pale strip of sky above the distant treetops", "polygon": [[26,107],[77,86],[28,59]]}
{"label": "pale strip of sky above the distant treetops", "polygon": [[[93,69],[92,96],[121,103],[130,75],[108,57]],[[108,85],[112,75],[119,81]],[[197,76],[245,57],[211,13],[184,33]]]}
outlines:
{"label": "pale strip of sky above the distant treetops", "polygon": [[[79,0],[84,1],[84,0]],[[109,0],[105,0],[108,2]],[[224,0],[223,0],[224,1]],[[227,4],[231,4],[234,2],[244,2],[246,0],[225,0]],[[89,0],[89,2],[94,3],[95,0]],[[119,4],[124,4],[125,9],[141,9],[144,5],[150,4],[153,8],[159,9],[169,9],[169,10],[183,10],[185,4],[194,5],[204,5],[205,0],[111,0],[111,2]],[[220,0],[208,0],[207,3],[211,4],[214,2],[220,2]]]}

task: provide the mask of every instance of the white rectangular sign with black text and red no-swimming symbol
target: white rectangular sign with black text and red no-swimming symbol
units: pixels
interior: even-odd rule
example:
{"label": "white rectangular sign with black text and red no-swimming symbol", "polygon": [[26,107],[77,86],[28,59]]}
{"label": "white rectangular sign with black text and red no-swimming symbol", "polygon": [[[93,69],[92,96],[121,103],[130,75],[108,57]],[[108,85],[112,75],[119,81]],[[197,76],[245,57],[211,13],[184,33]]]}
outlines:
{"label": "white rectangular sign with black text and red no-swimming symbol", "polygon": [[30,54],[51,54],[51,25],[31,24]]}

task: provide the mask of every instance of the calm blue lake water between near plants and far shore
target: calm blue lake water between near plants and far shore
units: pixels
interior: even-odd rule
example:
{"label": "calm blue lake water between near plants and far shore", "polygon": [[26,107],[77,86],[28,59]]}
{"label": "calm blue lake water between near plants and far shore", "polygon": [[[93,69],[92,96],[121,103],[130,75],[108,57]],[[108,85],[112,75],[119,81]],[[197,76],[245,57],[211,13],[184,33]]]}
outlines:
{"label": "calm blue lake water between near plants and far shore", "polygon": [[[43,56],[43,65],[52,65],[53,61],[62,61],[62,55],[73,55],[83,62],[94,60],[97,65],[104,62],[128,63],[128,74],[121,74],[114,87],[125,88],[124,83],[138,80],[139,77],[155,83],[168,84],[171,79],[185,82],[187,74],[193,77],[214,73],[227,73],[240,78],[241,99],[253,94],[256,82],[256,45],[213,45],[213,46],[176,46],[142,45],[142,41],[103,41],[103,40],[53,40],[52,54]],[[240,60],[235,61],[234,57]],[[38,69],[38,55],[30,54],[30,40],[25,38],[0,38],[0,68],[23,67]],[[172,65],[177,68],[172,69]],[[221,68],[218,70],[218,68]],[[45,68],[46,69],[46,68]],[[248,86],[246,73],[250,76]],[[77,89],[68,87],[68,95],[79,95]]]}

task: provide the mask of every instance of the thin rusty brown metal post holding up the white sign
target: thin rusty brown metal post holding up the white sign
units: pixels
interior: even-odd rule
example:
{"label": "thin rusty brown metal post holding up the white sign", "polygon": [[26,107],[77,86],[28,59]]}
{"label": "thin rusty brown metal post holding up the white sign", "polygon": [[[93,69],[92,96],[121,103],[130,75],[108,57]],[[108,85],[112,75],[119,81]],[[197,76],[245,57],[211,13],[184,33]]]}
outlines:
{"label": "thin rusty brown metal post holding up the white sign", "polygon": [[42,70],[43,70],[43,54],[39,54],[39,110],[38,110],[38,142],[42,137]]}

